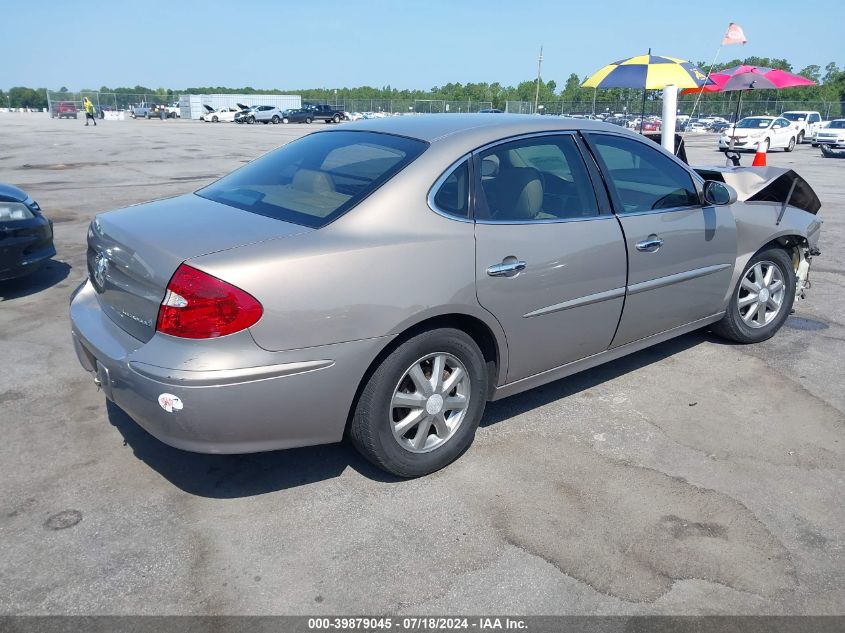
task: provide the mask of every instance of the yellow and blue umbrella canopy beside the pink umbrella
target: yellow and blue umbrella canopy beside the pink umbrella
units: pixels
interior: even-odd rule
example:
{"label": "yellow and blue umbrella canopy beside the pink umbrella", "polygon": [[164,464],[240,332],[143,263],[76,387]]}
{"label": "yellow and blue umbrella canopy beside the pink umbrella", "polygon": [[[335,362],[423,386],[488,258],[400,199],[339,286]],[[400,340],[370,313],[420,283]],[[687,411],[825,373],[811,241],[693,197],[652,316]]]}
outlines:
{"label": "yellow and blue umbrella canopy beside the pink umbrella", "polygon": [[658,90],[668,85],[701,88],[711,83],[698,66],[677,57],[637,55],[608,64],[581,84],[583,88],[639,88]]}

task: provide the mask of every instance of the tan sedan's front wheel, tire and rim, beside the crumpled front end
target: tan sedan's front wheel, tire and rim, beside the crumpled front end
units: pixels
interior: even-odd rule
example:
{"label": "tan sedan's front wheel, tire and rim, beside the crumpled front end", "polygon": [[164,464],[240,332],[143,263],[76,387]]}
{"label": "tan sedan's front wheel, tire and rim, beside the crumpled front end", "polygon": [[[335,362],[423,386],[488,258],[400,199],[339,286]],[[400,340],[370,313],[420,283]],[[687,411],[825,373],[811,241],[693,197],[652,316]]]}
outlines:
{"label": "tan sedan's front wheel, tire and rim, beside the crumpled front end", "polygon": [[712,326],[737,343],[765,341],[781,328],[795,301],[795,270],[781,248],[757,253],[746,265],[727,312]]}

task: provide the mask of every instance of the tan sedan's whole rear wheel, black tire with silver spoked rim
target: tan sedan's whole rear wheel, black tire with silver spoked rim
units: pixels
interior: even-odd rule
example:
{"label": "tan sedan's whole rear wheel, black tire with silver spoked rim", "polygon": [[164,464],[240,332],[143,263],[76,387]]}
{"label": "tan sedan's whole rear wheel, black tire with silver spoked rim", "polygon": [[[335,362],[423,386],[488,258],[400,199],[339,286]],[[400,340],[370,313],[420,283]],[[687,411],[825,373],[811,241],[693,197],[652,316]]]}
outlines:
{"label": "tan sedan's whole rear wheel, black tire with silver spoked rim", "polygon": [[461,330],[429,330],[399,345],[372,374],[350,437],[388,472],[427,475],[472,444],[487,392],[487,366],[476,342]]}

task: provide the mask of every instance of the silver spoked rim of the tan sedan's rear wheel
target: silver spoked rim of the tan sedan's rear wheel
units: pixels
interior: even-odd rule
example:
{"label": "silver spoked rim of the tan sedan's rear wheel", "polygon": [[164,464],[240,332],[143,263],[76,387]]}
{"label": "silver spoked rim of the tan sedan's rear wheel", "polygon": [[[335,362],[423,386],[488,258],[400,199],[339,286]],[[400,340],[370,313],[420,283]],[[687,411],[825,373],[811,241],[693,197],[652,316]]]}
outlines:
{"label": "silver spoked rim of the tan sedan's rear wheel", "polygon": [[466,417],[470,386],[466,367],[451,354],[436,352],[416,361],[393,390],[393,437],[412,453],[439,448]]}

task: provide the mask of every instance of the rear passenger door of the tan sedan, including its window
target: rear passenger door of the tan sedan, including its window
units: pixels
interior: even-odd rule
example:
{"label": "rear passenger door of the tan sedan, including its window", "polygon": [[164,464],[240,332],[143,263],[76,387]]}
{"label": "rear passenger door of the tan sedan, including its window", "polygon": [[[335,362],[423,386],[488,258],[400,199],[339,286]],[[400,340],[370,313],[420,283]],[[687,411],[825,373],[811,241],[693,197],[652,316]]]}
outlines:
{"label": "rear passenger door of the tan sedan, including its window", "polygon": [[606,350],[619,323],[625,243],[581,143],[533,135],[474,154],[476,292],[507,336],[508,382]]}

